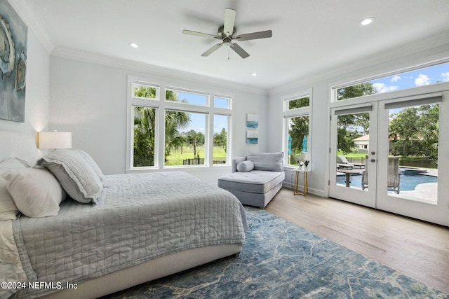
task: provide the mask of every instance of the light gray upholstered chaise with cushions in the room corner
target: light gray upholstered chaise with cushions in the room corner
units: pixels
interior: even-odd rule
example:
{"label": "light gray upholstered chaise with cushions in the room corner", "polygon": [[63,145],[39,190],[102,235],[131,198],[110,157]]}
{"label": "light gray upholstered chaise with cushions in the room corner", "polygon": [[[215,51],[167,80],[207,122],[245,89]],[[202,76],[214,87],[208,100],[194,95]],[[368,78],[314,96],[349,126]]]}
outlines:
{"label": "light gray upholstered chaise with cushions in the room corner", "polygon": [[282,188],[283,153],[234,158],[232,171],[218,179],[218,187],[236,195],[242,204],[263,209]]}

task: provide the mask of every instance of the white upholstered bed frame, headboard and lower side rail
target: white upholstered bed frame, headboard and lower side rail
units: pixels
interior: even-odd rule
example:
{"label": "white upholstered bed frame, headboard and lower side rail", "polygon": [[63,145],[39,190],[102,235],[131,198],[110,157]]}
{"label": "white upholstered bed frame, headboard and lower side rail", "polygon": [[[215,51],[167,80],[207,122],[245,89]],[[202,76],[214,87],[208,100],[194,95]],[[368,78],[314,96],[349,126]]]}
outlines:
{"label": "white upholstered bed frame, headboard and lower side rail", "polygon": [[[34,164],[38,158],[35,137],[0,131],[0,160],[8,157],[22,158]],[[66,288],[42,298],[98,298],[146,281],[210,263],[219,258],[238,256],[241,249],[241,244],[222,244],[189,249],[83,281],[77,284],[76,288]]]}

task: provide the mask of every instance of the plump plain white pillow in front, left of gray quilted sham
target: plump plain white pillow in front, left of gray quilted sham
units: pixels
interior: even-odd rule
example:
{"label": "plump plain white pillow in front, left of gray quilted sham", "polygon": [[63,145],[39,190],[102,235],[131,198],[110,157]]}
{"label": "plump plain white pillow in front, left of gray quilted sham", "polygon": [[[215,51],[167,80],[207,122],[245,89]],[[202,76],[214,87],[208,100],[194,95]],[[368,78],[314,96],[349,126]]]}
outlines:
{"label": "plump plain white pillow in front, left of gray quilted sham", "polygon": [[8,181],[8,191],[22,214],[33,218],[58,215],[66,194],[47,169],[28,167],[1,176]]}

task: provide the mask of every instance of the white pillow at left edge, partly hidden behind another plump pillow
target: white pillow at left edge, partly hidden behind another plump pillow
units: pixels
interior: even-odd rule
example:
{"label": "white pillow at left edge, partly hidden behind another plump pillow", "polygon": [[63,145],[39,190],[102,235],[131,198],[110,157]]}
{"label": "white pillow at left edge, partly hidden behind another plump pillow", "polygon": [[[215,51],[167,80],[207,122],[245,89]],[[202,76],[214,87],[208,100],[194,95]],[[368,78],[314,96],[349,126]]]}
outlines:
{"label": "white pillow at left edge, partly hidden behind another plump pillow", "polygon": [[9,194],[8,181],[3,179],[1,174],[11,169],[24,169],[28,166],[25,160],[19,158],[7,158],[0,162],[0,221],[15,220],[20,214],[13,197]]}

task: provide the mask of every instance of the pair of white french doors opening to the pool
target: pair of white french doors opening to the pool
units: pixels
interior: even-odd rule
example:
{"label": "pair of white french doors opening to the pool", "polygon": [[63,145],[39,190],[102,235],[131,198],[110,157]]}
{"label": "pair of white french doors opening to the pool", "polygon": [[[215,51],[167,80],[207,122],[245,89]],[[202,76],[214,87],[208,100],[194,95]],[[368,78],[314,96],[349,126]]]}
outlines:
{"label": "pair of white french doors opening to the pool", "polygon": [[449,225],[449,92],[384,98],[330,110],[329,196]]}

